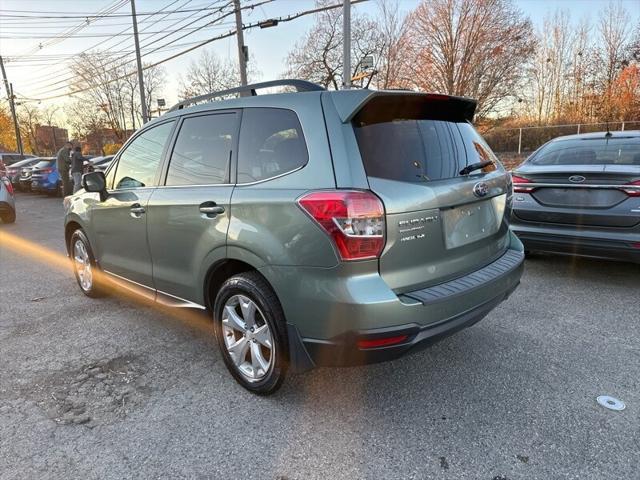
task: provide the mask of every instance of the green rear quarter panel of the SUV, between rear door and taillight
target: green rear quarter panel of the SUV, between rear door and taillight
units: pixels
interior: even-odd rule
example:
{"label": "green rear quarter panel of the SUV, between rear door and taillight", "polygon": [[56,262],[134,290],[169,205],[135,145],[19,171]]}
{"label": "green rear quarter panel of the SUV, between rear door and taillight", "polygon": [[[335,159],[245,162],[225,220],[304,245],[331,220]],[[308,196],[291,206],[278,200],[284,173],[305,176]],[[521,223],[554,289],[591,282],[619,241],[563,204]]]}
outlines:
{"label": "green rear quarter panel of the SUV, between rear door and taillight", "polygon": [[295,111],[309,161],[301,169],[283,176],[235,187],[227,236],[228,256],[243,261],[250,259],[256,268],[335,266],[338,260],[329,238],[296,202],[311,190],[335,188],[320,95],[273,96],[270,100],[255,106]]}

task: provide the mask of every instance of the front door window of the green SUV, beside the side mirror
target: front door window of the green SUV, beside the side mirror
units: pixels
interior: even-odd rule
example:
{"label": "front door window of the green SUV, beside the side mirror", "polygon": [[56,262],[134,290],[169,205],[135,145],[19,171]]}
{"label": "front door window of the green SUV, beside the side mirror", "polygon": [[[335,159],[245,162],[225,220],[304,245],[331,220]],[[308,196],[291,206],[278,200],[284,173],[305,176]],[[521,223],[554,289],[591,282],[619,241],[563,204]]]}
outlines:
{"label": "front door window of the green SUV, beside the side mirror", "polygon": [[[152,127],[135,138],[116,166],[113,188],[151,187],[162,160],[162,152],[175,122]],[[109,183],[107,183],[109,185]]]}

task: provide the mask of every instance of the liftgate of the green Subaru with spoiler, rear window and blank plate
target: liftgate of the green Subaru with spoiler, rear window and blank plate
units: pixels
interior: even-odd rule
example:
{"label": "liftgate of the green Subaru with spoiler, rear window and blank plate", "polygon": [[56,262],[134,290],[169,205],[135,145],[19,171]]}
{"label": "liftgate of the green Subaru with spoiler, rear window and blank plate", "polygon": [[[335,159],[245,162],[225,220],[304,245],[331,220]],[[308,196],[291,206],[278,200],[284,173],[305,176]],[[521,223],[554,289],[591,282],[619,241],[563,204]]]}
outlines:
{"label": "liftgate of the green Subaru with spoiler, rear window and blank plate", "polygon": [[353,117],[370,189],[385,205],[380,274],[397,293],[466,275],[508,247],[508,174],[469,123],[474,109],[407,93],[374,96]]}

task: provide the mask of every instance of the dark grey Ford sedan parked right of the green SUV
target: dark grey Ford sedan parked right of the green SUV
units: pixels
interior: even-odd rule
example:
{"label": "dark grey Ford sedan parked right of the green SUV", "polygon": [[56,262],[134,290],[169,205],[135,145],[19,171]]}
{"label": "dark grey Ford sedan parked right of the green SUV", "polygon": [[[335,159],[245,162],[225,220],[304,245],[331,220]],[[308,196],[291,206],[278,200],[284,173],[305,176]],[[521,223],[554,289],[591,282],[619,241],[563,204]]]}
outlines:
{"label": "dark grey Ford sedan parked right of the green SUV", "polygon": [[513,172],[527,250],[640,262],[640,131],[556,138]]}

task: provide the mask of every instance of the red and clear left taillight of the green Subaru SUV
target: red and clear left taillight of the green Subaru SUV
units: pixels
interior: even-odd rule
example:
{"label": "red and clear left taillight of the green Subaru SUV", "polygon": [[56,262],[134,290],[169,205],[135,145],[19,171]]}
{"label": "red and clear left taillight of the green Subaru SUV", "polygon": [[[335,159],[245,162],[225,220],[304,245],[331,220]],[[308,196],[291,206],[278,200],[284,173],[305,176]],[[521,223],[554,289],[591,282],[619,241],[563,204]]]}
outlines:
{"label": "red and clear left taillight of the green Subaru SUV", "polygon": [[298,200],[329,234],[342,260],[377,258],[384,248],[384,205],[367,191],[312,192]]}

